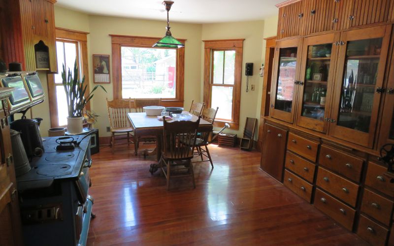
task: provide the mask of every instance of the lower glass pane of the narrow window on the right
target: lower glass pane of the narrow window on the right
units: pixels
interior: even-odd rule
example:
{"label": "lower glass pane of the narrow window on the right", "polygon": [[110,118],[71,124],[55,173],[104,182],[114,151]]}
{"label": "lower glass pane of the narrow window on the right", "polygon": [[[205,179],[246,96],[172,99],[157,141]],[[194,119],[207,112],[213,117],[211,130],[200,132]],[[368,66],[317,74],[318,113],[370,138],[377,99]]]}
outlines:
{"label": "lower glass pane of the narrow window on the right", "polygon": [[232,87],[212,86],[212,108],[219,107],[217,119],[231,120],[232,116]]}

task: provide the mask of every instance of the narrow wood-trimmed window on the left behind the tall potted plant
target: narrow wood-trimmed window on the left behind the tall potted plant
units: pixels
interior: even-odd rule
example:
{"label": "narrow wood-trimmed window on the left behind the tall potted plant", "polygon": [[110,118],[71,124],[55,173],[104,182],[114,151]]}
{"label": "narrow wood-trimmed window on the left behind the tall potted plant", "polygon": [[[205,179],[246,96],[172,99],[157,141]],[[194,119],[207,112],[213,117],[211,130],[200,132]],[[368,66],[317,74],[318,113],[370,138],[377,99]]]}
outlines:
{"label": "narrow wood-trimmed window on the left behind the tall potted plant", "polygon": [[[88,61],[87,61],[87,33],[66,29],[56,29],[56,55],[58,73],[48,74],[48,95],[51,126],[59,127],[67,124],[66,92],[63,87],[62,71],[63,64],[73,73],[74,62],[78,66],[78,76],[85,76],[86,84],[89,85]],[[88,86],[89,87],[89,86]],[[87,89],[89,92],[89,88]],[[87,105],[87,109],[90,106]]]}

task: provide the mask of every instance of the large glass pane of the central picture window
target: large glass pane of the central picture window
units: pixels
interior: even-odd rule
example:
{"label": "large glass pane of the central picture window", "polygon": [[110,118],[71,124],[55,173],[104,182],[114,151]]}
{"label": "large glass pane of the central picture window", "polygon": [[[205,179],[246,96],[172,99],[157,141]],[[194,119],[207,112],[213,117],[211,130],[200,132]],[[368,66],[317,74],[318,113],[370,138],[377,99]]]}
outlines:
{"label": "large glass pane of the central picture window", "polygon": [[176,50],[122,47],[123,98],[175,98]]}

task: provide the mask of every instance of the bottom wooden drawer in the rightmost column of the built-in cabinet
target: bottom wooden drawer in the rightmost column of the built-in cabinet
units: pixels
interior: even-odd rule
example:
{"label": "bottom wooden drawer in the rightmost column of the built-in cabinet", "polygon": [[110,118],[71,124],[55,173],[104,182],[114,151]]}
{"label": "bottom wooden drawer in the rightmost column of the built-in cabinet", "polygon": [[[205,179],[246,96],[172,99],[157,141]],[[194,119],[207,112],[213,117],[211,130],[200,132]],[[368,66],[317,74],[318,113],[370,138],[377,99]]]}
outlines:
{"label": "bottom wooden drawer in the rightmost column of the built-in cabinet", "polygon": [[373,246],[384,246],[387,239],[388,230],[373,222],[365,216],[360,216],[357,234],[366,242]]}

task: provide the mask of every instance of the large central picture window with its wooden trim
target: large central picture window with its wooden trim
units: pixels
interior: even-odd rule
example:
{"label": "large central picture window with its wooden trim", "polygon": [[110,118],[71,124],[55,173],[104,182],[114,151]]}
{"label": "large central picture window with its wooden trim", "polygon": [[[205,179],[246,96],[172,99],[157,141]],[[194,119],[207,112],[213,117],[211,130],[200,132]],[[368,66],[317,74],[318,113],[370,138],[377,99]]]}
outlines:
{"label": "large central picture window with its wooden trim", "polygon": [[153,48],[160,39],[154,37],[111,38],[114,98],[162,98],[164,106],[183,106],[184,48]]}

